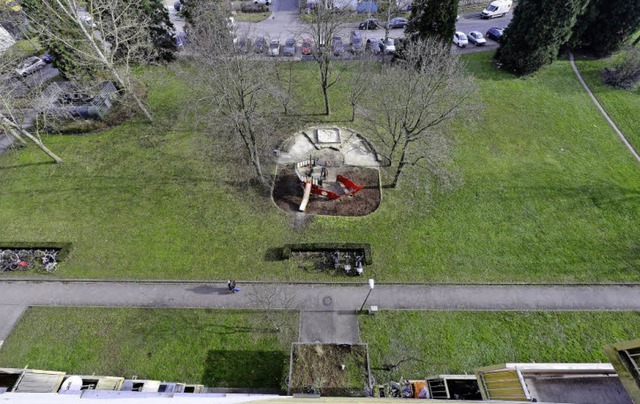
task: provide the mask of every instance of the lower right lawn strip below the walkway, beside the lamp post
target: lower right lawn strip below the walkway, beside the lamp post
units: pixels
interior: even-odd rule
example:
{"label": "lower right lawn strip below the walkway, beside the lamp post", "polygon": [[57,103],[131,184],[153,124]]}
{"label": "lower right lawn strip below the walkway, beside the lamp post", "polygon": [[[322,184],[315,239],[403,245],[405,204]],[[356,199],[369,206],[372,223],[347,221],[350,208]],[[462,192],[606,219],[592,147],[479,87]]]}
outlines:
{"label": "lower right lawn strip below the walkway, beside the lamp post", "polygon": [[[384,311],[359,323],[378,383],[508,362],[608,362],[604,345],[640,334],[636,312]],[[380,369],[402,358],[416,359]]]}

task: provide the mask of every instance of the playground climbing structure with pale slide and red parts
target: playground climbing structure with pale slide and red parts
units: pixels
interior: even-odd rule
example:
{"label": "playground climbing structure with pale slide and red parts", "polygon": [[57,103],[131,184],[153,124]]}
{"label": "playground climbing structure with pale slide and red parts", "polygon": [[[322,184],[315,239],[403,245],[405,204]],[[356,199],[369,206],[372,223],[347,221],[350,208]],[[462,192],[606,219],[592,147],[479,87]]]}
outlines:
{"label": "playground climbing structure with pale slide and red parts", "polygon": [[364,188],[364,185],[357,185],[336,171],[337,167],[331,161],[311,157],[296,164],[296,175],[304,187],[301,212],[306,210],[311,195],[335,200],[354,195]]}

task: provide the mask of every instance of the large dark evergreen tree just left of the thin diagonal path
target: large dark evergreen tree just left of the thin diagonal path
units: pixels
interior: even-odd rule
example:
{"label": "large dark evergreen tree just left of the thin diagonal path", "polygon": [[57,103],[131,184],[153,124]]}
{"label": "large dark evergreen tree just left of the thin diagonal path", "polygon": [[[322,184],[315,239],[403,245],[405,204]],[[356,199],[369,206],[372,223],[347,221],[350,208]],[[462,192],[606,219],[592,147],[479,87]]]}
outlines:
{"label": "large dark evergreen tree just left of the thin diagonal path", "polygon": [[521,0],[496,60],[516,74],[531,74],[553,62],[585,4],[586,0]]}

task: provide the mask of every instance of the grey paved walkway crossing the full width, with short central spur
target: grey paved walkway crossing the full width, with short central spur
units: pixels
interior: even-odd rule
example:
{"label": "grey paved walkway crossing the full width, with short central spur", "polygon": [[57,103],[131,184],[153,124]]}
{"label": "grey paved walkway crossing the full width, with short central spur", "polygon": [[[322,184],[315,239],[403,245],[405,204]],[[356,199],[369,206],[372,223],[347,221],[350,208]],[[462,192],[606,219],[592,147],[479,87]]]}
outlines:
{"label": "grey paved walkway crossing the full width, with short central spur", "polygon": [[[0,341],[28,306],[120,306],[259,308],[251,292],[261,284],[239,283],[227,292],[226,283],[25,282],[0,281]],[[278,285],[294,298],[295,307],[309,314],[301,324],[303,340],[354,339],[350,322],[369,288],[332,285]],[[385,309],[430,310],[640,310],[640,285],[631,286],[400,286],[376,285],[367,306]],[[291,306],[290,306],[291,307]],[[321,326],[305,326],[313,321]],[[351,324],[351,325],[349,325]],[[346,327],[346,328],[345,328]],[[320,328],[320,331],[317,331]],[[334,331],[331,331],[334,330]],[[326,331],[326,333],[325,333]],[[343,334],[341,334],[343,333]],[[346,341],[345,341],[346,342]]]}

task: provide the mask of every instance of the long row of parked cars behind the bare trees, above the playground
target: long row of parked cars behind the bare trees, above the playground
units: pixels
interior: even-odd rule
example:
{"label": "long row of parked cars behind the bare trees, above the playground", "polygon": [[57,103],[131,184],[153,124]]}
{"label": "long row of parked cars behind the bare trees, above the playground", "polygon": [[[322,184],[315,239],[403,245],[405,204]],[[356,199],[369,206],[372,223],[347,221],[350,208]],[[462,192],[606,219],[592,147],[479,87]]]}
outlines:
{"label": "long row of parked cars behind the bare trees, above the playground", "polygon": [[[323,45],[320,46],[320,49]],[[302,43],[298,46],[298,41],[294,38],[287,38],[283,43],[279,39],[271,39],[267,41],[265,37],[239,38],[236,41],[236,50],[240,53],[255,52],[258,54],[267,54],[268,56],[295,56],[298,52],[303,56],[309,56],[317,50],[316,45],[309,38],[302,39]],[[392,55],[396,52],[395,40],[392,38],[377,39],[369,38],[366,42],[362,38],[362,34],[358,31],[352,31],[350,34],[350,42],[347,45],[342,37],[334,36],[331,41],[331,53],[334,56],[342,56],[347,51],[353,54],[370,52],[372,54],[385,53]]]}

